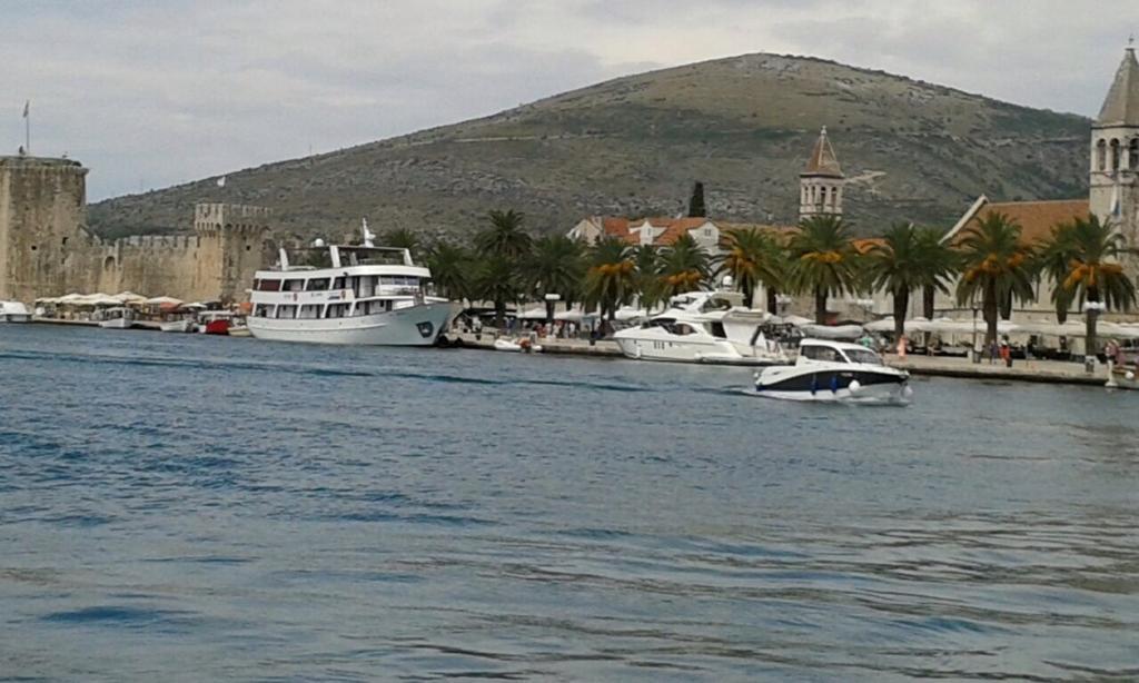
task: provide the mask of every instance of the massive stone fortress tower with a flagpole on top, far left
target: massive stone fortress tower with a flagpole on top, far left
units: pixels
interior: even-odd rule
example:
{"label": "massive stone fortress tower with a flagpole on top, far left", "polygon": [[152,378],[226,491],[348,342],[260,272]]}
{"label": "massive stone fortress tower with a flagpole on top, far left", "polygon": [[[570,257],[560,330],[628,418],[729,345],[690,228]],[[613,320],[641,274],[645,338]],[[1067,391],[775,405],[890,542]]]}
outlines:
{"label": "massive stone fortress tower with a flagpole on top, far left", "polygon": [[85,271],[85,176],[79,162],[0,157],[0,299],[63,294]]}

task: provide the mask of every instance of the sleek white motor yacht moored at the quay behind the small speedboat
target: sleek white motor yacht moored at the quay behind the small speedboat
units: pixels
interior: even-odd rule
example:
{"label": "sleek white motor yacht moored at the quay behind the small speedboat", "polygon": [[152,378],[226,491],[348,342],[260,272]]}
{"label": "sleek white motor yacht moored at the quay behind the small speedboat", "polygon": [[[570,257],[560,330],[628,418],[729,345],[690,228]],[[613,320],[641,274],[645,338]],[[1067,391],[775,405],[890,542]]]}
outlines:
{"label": "sleek white motor yacht moored at the quay behind the small speedboat", "polygon": [[639,327],[613,335],[631,359],[682,363],[772,365],[789,362],[763,334],[767,313],[743,307],[738,291],[691,291]]}

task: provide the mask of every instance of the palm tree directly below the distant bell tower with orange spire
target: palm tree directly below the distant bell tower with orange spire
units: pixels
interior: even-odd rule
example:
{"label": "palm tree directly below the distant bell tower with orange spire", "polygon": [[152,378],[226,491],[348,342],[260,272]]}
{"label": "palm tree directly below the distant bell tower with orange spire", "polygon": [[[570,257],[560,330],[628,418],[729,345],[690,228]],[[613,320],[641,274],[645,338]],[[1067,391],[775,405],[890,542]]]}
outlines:
{"label": "palm tree directly below the distant bell tower with orange spire", "polygon": [[814,321],[826,322],[827,297],[858,289],[858,252],[838,216],[805,219],[787,246],[790,288],[814,295]]}

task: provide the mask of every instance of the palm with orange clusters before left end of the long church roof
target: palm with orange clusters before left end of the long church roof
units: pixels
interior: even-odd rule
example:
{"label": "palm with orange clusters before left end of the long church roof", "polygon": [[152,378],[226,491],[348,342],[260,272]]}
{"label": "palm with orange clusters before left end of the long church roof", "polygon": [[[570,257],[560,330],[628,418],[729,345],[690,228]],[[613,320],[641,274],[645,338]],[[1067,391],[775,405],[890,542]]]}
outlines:
{"label": "palm with orange clusters before left end of the long church roof", "polygon": [[1033,296],[1031,254],[1019,242],[1021,225],[1001,213],[978,219],[958,242],[962,272],[957,301],[965,305],[981,296],[985,348],[997,343],[1001,303]]}

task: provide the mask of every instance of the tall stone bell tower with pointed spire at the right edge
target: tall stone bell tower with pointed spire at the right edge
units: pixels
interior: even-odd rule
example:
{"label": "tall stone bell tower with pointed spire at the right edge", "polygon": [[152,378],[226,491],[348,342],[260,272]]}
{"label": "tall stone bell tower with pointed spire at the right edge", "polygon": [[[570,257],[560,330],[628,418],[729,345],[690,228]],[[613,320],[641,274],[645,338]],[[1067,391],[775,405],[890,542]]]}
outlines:
{"label": "tall stone bell tower with pointed spire at the right edge", "polygon": [[1139,245],[1139,64],[1133,47],[1091,126],[1091,213]]}

